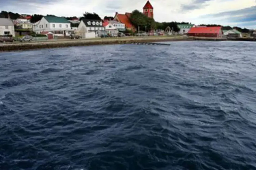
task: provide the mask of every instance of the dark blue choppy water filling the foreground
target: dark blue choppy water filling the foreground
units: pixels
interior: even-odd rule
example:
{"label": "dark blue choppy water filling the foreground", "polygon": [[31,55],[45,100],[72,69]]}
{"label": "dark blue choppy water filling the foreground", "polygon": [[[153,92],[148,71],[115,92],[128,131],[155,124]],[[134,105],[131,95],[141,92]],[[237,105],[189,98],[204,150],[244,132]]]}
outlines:
{"label": "dark blue choppy water filling the foreground", "polygon": [[0,170],[256,169],[256,43],[0,53]]}

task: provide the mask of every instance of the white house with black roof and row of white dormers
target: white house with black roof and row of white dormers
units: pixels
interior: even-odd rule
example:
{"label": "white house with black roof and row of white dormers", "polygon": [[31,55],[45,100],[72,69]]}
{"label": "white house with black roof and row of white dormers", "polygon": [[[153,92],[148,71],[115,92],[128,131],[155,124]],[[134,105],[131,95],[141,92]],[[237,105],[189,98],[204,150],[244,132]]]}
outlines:
{"label": "white house with black roof and row of white dormers", "polygon": [[92,38],[93,34],[87,33],[94,33],[95,36],[98,36],[100,31],[105,31],[101,20],[82,19],[77,28],[77,33],[82,36],[82,38],[87,38],[87,36]]}

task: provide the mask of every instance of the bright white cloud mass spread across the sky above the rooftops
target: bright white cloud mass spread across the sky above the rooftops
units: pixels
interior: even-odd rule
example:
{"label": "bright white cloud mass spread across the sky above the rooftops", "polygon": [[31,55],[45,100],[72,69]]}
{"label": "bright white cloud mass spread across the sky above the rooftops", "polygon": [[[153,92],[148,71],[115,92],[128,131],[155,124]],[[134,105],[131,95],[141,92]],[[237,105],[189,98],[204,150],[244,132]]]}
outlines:
{"label": "bright white cloud mass spread across the sky above the rooftops", "polygon": [[[19,2],[20,1],[22,0],[19,0]],[[229,24],[225,19],[227,16],[223,16],[223,18],[211,16],[208,16],[208,18],[201,18],[200,16],[234,11],[256,5],[255,0],[150,0],[150,2],[154,7],[154,18],[156,21],[187,21],[195,24]],[[25,5],[16,8],[17,11],[13,12],[36,13],[42,15],[53,14],[57,16],[82,16],[86,11],[95,12],[103,18],[104,16],[114,16],[115,12],[132,12],[135,9],[142,11],[142,7],[145,3],[146,0],[53,0],[50,4],[39,5],[34,1],[31,1],[30,3],[26,3]],[[195,4],[197,6],[195,6]],[[20,5],[22,5],[22,3],[20,3]],[[190,10],[182,11],[184,5],[188,7],[191,6]],[[10,6],[8,8],[11,9]],[[12,10],[13,9],[14,8],[12,8]]]}

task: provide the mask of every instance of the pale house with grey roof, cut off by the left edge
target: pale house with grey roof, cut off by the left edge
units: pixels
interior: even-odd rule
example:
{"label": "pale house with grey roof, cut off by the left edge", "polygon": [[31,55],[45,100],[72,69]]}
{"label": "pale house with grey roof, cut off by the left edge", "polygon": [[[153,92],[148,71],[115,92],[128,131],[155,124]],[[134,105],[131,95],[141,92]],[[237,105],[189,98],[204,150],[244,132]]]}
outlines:
{"label": "pale house with grey roof, cut off by the left edge", "polygon": [[14,24],[10,19],[0,18],[0,35],[12,35],[15,37]]}

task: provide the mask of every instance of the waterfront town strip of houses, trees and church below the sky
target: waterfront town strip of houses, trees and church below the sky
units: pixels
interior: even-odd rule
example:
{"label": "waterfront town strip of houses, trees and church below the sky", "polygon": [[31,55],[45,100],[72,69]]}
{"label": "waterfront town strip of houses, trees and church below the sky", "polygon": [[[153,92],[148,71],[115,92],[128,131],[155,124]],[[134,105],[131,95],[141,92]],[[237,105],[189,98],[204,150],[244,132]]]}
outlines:
{"label": "waterfront town strip of houses, trees and church below the sky", "polygon": [[[11,15],[13,14],[13,15]],[[134,10],[103,19],[96,13],[82,17],[59,17],[54,15],[17,15],[1,12],[0,42],[48,39],[84,39],[124,36],[195,36],[195,37],[255,37],[255,30],[231,28],[220,25],[195,25],[189,22],[163,22],[154,20],[154,8],[150,1],[142,12]]]}

